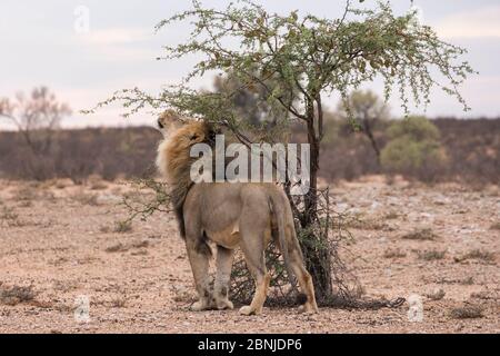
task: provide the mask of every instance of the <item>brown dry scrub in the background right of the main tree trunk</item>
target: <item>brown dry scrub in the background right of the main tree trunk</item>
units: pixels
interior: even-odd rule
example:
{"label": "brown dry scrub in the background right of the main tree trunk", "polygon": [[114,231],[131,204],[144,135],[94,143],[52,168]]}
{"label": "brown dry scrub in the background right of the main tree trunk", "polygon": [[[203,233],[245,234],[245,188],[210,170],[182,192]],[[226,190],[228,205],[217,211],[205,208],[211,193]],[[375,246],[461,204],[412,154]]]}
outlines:
{"label": "brown dry scrub in the background right of the main tree trunk", "polygon": [[[467,181],[481,187],[498,182],[500,176],[500,119],[436,119],[440,141],[447,154],[447,161],[429,169],[406,172],[409,178],[423,181]],[[388,138],[386,130],[390,122],[379,122],[373,135],[381,148]],[[322,142],[321,175],[328,180],[356,179],[364,175],[380,174],[381,167],[366,136],[353,132],[348,125],[333,122]],[[301,134],[296,132],[303,141]]]}

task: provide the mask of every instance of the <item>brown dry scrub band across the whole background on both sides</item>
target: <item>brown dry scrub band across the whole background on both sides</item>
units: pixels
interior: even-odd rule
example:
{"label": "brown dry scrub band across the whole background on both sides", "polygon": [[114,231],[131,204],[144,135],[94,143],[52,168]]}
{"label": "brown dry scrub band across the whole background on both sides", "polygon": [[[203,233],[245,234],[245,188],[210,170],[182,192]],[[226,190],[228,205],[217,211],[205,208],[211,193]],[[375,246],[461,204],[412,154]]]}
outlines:
{"label": "brown dry scrub band across the whole background on both sides", "polygon": [[[467,181],[474,186],[497,182],[500,176],[500,119],[437,119],[447,162],[432,168],[422,166],[408,177],[424,181]],[[386,131],[390,122],[373,128],[378,145],[387,145]],[[327,180],[356,179],[380,174],[376,154],[364,135],[352,131],[347,123],[330,120],[321,144],[320,175]],[[92,190],[103,190],[107,184],[96,175],[112,180],[118,177],[140,177],[154,160],[161,135],[151,128],[86,129],[58,131],[53,149],[43,157],[31,157],[22,138],[14,132],[0,132],[0,177],[22,179],[70,178],[74,182],[89,181]],[[304,141],[303,132],[293,135]],[[37,165],[27,164],[37,160]],[[393,177],[388,177],[392,179]],[[67,182],[60,182],[62,189]],[[389,211],[388,215],[397,214]],[[497,221],[498,225],[498,221]],[[492,227],[494,228],[494,227]],[[497,227],[498,228],[498,227]]]}

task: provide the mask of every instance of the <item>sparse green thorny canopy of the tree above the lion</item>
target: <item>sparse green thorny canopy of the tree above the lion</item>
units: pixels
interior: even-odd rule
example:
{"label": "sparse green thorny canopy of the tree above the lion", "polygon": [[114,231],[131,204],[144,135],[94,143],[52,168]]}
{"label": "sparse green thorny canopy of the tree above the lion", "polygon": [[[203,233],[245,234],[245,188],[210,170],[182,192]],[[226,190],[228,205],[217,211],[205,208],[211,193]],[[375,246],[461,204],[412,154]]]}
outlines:
{"label": "sparse green thorny canopy of the tree above the lion", "polygon": [[[161,21],[157,30],[184,20],[192,23],[188,40],[166,46],[167,53],[161,58],[201,55],[181,85],[154,97],[139,89],[123,90],[110,100],[123,100],[128,113],[152,105],[214,120],[220,120],[222,112],[228,120],[232,115],[220,111],[229,105],[224,100],[228,93],[187,87],[192,78],[214,70],[236,76],[242,87],[263,88],[268,101],[303,120],[311,118],[311,109],[321,110],[322,95],[338,91],[347,98],[350,90],[377,76],[383,79],[386,98],[397,89],[407,112],[411,99],[427,105],[434,86],[468,109],[458,90],[473,72],[467,61],[460,60],[466,50],[439,39],[430,27],[419,23],[416,11],[396,16],[389,3],[377,2],[369,10],[353,8],[347,1],[341,18],[327,19],[300,16],[298,11],[288,16],[270,13],[252,1],[231,2],[223,10],[206,9],[194,0],[192,9]],[[446,82],[438,82],[433,70]],[[273,85],[269,86],[271,78]],[[321,119],[320,112],[316,116]],[[318,123],[317,135],[321,137]]]}

